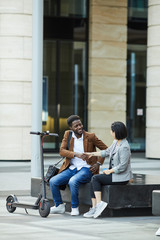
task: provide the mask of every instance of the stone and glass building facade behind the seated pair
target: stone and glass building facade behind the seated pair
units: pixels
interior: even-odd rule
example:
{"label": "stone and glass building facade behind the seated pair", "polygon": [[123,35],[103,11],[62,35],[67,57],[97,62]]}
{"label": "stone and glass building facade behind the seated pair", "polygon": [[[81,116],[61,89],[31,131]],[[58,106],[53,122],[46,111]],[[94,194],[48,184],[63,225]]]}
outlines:
{"label": "stone and glass building facade behind the seated pair", "polygon": [[[31,159],[34,1],[0,1],[0,160]],[[60,135],[45,150],[58,152],[67,116],[79,114],[107,145],[111,123],[125,122],[131,149],[159,159],[160,0],[38,4],[43,92],[36,108],[42,108],[41,129]]]}

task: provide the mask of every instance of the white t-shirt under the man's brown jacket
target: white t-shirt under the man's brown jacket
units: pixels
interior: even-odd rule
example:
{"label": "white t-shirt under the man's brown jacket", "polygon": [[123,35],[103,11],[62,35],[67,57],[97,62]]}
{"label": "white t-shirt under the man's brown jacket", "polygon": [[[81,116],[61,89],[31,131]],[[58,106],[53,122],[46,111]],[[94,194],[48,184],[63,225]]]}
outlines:
{"label": "white t-shirt under the man's brown jacket", "polygon": [[[72,133],[72,137],[74,138],[74,147],[73,151],[77,153],[84,153],[84,146],[83,146],[83,134],[81,138],[77,138],[74,132]],[[82,167],[90,168],[90,165],[87,164],[86,161],[82,160],[81,158],[74,157],[70,161],[70,169],[73,170],[77,168],[80,170]]]}

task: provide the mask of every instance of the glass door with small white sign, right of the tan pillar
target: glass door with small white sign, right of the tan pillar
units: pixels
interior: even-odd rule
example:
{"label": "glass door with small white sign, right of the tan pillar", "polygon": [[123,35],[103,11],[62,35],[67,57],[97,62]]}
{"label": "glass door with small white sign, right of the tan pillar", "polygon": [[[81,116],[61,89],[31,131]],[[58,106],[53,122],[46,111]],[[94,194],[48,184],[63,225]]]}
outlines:
{"label": "glass door with small white sign, right of the tan pillar", "polygon": [[146,46],[128,45],[127,126],[131,150],[145,150]]}

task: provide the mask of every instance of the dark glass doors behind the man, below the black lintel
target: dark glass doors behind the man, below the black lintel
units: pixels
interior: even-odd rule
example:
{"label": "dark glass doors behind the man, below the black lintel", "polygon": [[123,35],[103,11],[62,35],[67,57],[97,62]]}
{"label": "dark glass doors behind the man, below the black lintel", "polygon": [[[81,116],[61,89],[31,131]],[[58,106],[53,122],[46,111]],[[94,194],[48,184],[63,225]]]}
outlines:
{"label": "dark glass doors behind the man, below the black lintel", "polygon": [[58,151],[66,120],[78,114],[86,122],[87,82],[86,43],[73,41],[44,41],[43,130],[59,134],[51,137],[44,148]]}

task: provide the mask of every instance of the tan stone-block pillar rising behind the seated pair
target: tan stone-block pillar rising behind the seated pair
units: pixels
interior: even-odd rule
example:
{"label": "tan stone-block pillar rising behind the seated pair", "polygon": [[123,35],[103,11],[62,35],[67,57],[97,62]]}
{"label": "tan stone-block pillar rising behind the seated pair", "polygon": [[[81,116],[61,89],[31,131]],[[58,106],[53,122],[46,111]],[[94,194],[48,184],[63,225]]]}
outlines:
{"label": "tan stone-block pillar rising behind the seated pair", "polygon": [[127,0],[91,0],[89,22],[89,131],[110,144],[126,122]]}

